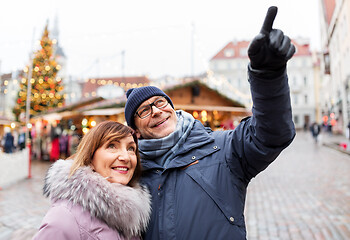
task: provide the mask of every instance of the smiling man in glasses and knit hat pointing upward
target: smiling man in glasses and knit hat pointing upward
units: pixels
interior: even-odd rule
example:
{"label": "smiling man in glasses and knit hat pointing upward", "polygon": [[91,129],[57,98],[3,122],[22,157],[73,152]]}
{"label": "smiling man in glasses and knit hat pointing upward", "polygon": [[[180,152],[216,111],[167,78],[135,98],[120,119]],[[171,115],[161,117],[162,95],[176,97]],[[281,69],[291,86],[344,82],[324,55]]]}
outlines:
{"label": "smiling man in glasses and knit hat pointing upward", "polygon": [[139,137],[141,182],[152,194],[144,239],[246,239],[249,182],[294,139],[287,61],[295,47],[269,8],[248,55],[253,115],[211,131],[154,86],[129,89],[125,119]]}

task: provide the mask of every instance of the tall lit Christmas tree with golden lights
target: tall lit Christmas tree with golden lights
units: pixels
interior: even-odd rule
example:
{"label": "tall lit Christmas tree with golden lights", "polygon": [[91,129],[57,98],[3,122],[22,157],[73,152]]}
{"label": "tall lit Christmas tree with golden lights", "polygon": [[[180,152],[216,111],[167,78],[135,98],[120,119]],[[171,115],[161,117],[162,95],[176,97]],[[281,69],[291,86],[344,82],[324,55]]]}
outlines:
{"label": "tall lit Christmas tree with golden lights", "polygon": [[[64,104],[62,79],[57,77],[60,65],[57,64],[53,55],[53,40],[49,38],[46,24],[42,35],[41,48],[35,52],[32,65],[30,115],[34,116],[40,112],[52,108],[61,107]],[[20,90],[18,91],[17,103],[13,109],[16,118],[26,111],[28,71],[24,69],[21,76]]]}

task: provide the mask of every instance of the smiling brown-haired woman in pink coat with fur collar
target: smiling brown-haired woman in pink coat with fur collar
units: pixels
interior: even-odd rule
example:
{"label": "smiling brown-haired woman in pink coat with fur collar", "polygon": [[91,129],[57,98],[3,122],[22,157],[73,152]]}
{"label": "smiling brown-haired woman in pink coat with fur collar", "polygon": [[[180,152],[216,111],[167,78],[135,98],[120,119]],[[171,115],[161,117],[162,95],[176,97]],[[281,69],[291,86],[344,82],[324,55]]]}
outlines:
{"label": "smiling brown-haired woman in pink coat with fur collar", "polygon": [[140,175],[134,130],[114,121],[98,124],[75,155],[49,169],[44,195],[52,206],[33,239],[140,239],[151,211]]}

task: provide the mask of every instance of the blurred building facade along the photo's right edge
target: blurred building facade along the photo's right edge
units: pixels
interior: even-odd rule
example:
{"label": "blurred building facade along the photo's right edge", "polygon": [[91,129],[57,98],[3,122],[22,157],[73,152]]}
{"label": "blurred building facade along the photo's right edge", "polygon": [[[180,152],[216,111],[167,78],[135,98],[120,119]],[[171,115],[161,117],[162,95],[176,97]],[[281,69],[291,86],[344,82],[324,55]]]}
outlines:
{"label": "blurred building facade along the photo's right edge", "polygon": [[319,0],[321,111],[333,132],[345,133],[350,121],[350,0]]}

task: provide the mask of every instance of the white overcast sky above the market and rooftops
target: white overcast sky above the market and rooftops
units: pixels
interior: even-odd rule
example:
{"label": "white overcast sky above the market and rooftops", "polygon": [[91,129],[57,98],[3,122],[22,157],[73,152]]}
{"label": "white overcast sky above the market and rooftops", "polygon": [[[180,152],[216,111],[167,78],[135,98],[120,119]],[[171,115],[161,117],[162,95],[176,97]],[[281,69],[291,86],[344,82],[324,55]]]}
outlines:
{"label": "white overcast sky above the market and rooftops", "polygon": [[0,1],[0,71],[23,69],[39,46],[32,39],[57,16],[68,75],[198,74],[228,42],[250,41],[271,5],[279,8],[274,28],[320,49],[318,0]]}

